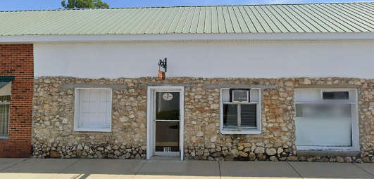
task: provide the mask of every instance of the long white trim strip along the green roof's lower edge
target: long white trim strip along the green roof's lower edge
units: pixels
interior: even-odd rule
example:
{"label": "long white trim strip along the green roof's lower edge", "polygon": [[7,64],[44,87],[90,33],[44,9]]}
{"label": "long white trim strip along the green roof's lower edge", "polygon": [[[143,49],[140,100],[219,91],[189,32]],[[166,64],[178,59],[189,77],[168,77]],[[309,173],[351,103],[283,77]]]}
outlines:
{"label": "long white trim strip along the green roof's lower edge", "polygon": [[102,34],[0,36],[0,44],[69,41],[372,40],[374,32],[248,34]]}

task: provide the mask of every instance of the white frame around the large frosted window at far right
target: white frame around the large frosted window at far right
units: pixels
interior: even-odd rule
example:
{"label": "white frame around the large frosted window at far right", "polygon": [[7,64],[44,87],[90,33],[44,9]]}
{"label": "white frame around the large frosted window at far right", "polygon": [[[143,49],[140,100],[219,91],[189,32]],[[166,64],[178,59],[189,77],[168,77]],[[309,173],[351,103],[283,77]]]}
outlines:
{"label": "white frame around the large frosted window at far right", "polygon": [[[297,101],[295,98],[295,105],[298,104],[349,104],[351,105],[351,141],[352,146],[350,147],[325,147],[325,146],[296,146],[297,150],[325,150],[325,151],[359,151],[359,105],[358,105],[358,93],[355,88],[298,88],[295,89],[295,95],[297,90],[313,90],[318,91],[317,101]],[[349,92],[348,100],[323,100],[323,92]],[[296,114],[296,106],[295,106]],[[296,119],[296,117],[295,117]],[[297,128],[295,128],[297,130]]]}

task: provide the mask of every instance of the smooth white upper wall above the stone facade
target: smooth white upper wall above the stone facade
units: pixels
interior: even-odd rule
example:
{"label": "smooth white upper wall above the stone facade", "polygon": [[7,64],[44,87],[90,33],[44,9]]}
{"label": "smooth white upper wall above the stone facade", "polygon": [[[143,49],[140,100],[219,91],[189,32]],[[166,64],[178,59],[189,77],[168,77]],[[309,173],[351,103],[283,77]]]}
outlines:
{"label": "smooth white upper wall above the stone facade", "polygon": [[358,77],[374,79],[374,41],[35,44],[35,77]]}

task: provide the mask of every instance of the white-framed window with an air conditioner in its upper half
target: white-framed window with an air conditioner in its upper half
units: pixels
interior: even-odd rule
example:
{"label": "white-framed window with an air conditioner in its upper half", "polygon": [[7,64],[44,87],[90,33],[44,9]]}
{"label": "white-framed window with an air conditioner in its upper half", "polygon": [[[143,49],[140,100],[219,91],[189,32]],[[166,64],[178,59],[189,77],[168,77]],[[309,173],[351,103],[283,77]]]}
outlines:
{"label": "white-framed window with an air conditioner in its upper half", "polygon": [[220,132],[223,134],[261,133],[260,89],[222,88]]}

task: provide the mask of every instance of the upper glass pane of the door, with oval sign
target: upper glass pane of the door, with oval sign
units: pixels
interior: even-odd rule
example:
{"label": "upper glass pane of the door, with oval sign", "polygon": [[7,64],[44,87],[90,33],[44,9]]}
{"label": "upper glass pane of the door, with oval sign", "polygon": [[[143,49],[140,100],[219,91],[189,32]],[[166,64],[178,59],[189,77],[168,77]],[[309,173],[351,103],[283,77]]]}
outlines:
{"label": "upper glass pane of the door, with oval sign", "polygon": [[179,120],[179,92],[156,92],[156,120]]}

